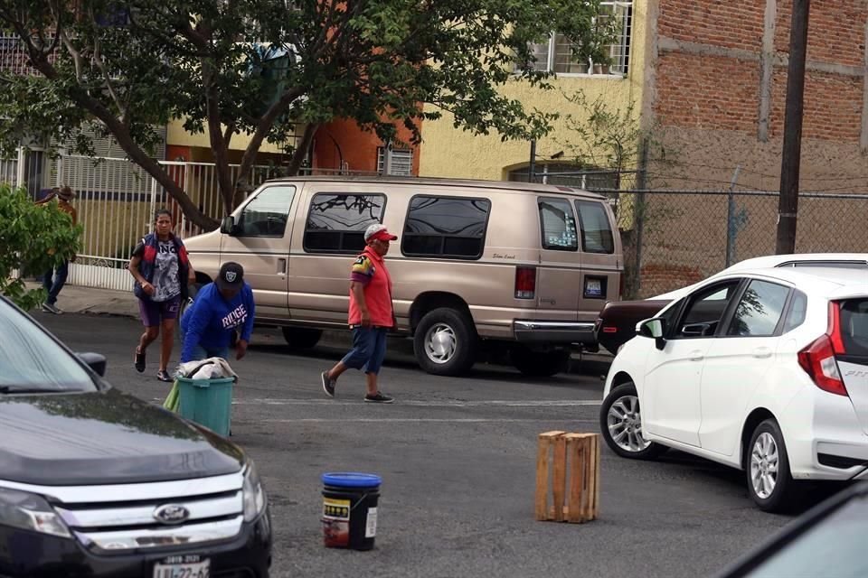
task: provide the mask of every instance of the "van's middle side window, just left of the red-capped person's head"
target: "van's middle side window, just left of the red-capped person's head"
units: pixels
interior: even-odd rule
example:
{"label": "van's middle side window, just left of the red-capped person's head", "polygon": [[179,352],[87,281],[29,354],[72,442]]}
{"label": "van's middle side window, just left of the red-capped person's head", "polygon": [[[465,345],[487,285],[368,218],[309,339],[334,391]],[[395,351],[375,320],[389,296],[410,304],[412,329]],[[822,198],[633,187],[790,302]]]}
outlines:
{"label": "van's middle side window, just left of the red-capped person's head", "polygon": [[309,253],[358,253],[364,249],[364,229],[382,223],[386,196],[318,193],[310,201],[305,226]]}

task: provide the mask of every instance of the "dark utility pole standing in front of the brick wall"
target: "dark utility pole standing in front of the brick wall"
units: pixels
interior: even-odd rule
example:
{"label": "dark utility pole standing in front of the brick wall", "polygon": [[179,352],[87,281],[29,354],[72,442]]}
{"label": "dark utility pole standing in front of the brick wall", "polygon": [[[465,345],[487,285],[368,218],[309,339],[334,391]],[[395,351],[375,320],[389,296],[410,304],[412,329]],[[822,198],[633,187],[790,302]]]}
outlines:
{"label": "dark utility pole standing in front of the brick wall", "polygon": [[810,0],[793,0],[789,33],[787,108],[784,114],[784,150],[780,163],[778,198],[778,238],[775,253],[796,250],[798,214],[798,170],[802,154],[802,117],[805,111],[805,61],[807,54],[807,14]]}

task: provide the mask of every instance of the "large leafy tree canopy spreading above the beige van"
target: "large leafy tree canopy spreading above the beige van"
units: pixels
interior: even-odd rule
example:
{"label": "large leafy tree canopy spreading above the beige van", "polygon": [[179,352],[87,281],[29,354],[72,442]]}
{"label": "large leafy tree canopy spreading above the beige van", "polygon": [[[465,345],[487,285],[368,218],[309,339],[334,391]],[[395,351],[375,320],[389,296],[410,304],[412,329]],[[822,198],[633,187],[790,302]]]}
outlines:
{"label": "large leafy tree canopy spreading above the beige van", "polygon": [[[241,133],[253,135],[241,175],[263,139],[292,142],[297,125],[335,118],[383,140],[404,126],[414,143],[420,122],[445,113],[473,134],[546,134],[552,114],[526,110],[498,87],[548,86],[529,43],[553,30],[580,46],[610,42],[614,29],[597,14],[599,0],[0,0],[0,26],[24,39],[40,73],[0,77],[0,141],[73,137],[90,154],[78,130],[89,120],[146,166],[153,127],[183,118],[188,131],[210,129],[231,204],[241,183],[224,157]],[[292,146],[293,172],[307,144]],[[185,197],[171,179],[161,183]],[[203,223],[193,203],[182,207]]]}

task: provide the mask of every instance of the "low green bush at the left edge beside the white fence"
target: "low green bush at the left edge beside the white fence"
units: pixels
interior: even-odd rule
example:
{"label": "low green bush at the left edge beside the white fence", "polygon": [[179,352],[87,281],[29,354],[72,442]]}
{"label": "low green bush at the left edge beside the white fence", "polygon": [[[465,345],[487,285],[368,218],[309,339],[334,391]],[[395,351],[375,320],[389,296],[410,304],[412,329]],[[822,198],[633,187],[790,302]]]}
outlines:
{"label": "low green bush at the left edge beside the white fence", "polygon": [[42,273],[74,256],[81,227],[55,201],[36,205],[24,189],[0,184],[0,294],[24,310],[45,299],[42,287],[30,289],[14,270]]}

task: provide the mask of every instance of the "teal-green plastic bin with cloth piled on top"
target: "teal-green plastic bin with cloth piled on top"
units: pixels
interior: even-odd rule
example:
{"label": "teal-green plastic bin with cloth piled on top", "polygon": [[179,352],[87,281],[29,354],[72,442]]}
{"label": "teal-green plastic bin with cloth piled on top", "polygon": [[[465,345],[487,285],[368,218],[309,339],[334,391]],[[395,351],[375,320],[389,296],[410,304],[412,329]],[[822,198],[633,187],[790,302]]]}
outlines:
{"label": "teal-green plastic bin with cloth piled on top", "polygon": [[181,398],[178,413],[224,437],[229,435],[235,378],[177,380]]}

